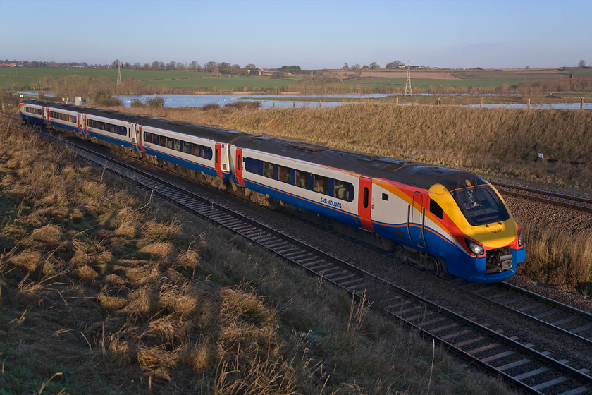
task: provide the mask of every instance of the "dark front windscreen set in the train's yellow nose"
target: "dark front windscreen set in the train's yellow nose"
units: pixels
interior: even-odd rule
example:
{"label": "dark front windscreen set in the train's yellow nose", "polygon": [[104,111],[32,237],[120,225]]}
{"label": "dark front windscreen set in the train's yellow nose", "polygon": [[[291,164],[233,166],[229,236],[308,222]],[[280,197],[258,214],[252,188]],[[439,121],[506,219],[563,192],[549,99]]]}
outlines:
{"label": "dark front windscreen set in the train's yellow nose", "polygon": [[474,185],[469,180],[461,181],[461,188],[451,192],[460,211],[471,225],[491,224],[510,218],[505,205],[491,186]]}

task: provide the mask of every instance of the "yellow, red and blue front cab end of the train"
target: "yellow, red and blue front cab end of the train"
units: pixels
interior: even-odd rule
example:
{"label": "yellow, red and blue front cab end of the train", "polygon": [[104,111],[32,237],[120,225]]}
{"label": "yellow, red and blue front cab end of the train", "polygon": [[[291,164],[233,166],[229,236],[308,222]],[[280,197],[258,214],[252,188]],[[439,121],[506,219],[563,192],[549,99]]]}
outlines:
{"label": "yellow, red and blue front cab end of the train", "polygon": [[432,250],[443,252],[450,274],[488,283],[516,273],[517,265],[526,259],[526,247],[495,188],[484,181],[476,186],[462,180],[455,190],[436,184],[429,194],[441,207],[442,218],[436,222],[443,232],[427,243]]}

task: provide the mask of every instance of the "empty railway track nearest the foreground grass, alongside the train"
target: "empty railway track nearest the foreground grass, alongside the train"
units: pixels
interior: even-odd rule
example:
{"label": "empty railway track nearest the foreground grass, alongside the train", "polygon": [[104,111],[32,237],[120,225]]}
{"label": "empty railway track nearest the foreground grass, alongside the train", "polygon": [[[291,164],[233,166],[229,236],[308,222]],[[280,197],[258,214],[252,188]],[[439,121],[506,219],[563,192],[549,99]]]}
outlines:
{"label": "empty railway track nearest the foreground grass, alongside the train", "polygon": [[242,235],[335,287],[371,300],[373,308],[434,339],[467,359],[469,364],[504,378],[514,387],[534,394],[592,394],[592,376],[586,368],[572,367],[567,360],[556,360],[544,351],[536,351],[532,344],[505,336],[489,324],[464,317],[164,178],[80,145],[74,149],[81,157],[128,178],[140,188]]}

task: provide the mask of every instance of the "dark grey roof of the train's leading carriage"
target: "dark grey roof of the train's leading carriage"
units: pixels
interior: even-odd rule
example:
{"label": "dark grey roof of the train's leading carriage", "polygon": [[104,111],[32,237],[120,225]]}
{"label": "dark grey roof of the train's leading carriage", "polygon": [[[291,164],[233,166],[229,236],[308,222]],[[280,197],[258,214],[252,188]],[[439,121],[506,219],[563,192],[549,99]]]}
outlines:
{"label": "dark grey roof of the train's leading carriage", "polygon": [[485,183],[479,176],[468,171],[428,166],[402,159],[331,150],[322,145],[305,142],[288,142],[266,136],[246,135],[233,144],[246,149],[353,171],[362,176],[398,181],[419,188],[429,189],[433,184],[441,183],[448,190],[453,190],[459,188],[460,181],[466,179],[477,185]]}

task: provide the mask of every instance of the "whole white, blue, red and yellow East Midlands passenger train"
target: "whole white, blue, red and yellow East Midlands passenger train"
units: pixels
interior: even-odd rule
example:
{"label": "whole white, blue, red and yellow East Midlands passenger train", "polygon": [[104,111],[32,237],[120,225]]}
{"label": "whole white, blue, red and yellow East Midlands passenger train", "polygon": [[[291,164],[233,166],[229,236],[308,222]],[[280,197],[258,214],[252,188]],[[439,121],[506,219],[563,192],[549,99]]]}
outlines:
{"label": "whole white, blue, red and yellow East Midlands passenger train", "polygon": [[434,276],[502,281],[526,259],[500,193],[468,171],[72,104],[25,99],[19,112],[25,123],[314,219]]}

